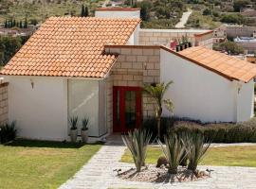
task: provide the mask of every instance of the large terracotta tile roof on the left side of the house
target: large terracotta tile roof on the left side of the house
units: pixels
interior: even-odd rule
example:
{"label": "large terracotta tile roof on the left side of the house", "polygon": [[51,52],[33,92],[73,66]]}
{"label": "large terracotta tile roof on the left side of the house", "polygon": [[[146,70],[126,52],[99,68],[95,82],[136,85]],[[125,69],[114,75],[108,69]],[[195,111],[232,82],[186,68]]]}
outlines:
{"label": "large terracotta tile roof on the left side of the house", "polygon": [[125,44],[139,19],[51,17],[9,60],[2,75],[104,77],[117,57],[104,44]]}

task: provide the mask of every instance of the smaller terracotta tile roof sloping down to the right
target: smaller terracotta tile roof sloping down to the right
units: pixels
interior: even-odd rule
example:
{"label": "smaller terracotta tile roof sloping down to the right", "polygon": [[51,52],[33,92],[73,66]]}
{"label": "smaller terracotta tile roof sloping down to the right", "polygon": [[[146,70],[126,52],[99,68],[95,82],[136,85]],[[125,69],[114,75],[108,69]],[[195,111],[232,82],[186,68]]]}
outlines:
{"label": "smaller terracotta tile roof sloping down to the right", "polygon": [[248,82],[256,76],[255,64],[203,46],[187,48],[177,54],[223,77],[228,77],[230,80],[236,79]]}

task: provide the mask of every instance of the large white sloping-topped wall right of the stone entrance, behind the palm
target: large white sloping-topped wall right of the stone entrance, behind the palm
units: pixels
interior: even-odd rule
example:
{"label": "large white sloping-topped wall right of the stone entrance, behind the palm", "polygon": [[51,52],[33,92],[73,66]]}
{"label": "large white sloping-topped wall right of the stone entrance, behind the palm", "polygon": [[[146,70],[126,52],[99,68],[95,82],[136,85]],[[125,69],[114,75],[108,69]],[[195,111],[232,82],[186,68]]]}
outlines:
{"label": "large white sloping-topped wall right of the stone entrance, behind the palm", "polygon": [[160,55],[160,81],[174,81],[165,98],[173,100],[175,115],[203,122],[236,122],[234,82],[165,50]]}

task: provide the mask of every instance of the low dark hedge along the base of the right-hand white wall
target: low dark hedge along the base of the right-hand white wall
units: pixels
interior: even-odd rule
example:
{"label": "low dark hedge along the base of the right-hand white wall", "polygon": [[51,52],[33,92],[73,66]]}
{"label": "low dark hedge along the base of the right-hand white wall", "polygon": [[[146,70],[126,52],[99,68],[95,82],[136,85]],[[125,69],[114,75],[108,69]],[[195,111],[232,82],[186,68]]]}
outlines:
{"label": "low dark hedge along the base of the right-hand white wall", "polygon": [[[143,127],[156,132],[156,121],[154,118],[145,120]],[[256,143],[256,118],[243,123],[211,123],[202,124],[200,121],[182,118],[162,118],[161,133],[168,132],[177,134],[188,132],[200,132],[212,143]]]}

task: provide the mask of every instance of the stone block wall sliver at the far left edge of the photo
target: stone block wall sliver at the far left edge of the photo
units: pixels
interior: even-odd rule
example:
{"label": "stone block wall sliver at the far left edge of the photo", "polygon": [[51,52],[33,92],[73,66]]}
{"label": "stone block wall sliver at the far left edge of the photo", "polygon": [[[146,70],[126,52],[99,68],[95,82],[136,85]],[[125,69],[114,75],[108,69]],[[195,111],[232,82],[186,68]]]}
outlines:
{"label": "stone block wall sliver at the far left edge of the photo", "polygon": [[0,125],[7,123],[8,120],[8,85],[9,83],[0,84]]}

